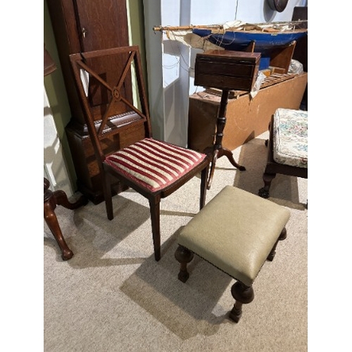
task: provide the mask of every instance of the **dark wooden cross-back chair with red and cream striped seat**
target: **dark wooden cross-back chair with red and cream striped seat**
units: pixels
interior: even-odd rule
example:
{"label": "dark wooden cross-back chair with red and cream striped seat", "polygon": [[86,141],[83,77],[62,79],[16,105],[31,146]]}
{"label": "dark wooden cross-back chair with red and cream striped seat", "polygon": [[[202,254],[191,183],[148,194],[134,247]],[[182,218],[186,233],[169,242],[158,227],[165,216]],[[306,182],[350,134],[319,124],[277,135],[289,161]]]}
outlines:
{"label": "dark wooden cross-back chair with red and cream striped seat", "polygon": [[[111,184],[116,177],[149,200],[154,256],[160,260],[161,199],[201,174],[203,208],[210,158],[153,139],[138,46],[72,54],[70,61],[99,165],[108,219],[113,220]],[[134,97],[128,89],[132,77],[137,84]],[[129,135],[133,132],[135,136],[136,130],[139,140],[130,141]],[[120,144],[115,139],[120,139]]]}

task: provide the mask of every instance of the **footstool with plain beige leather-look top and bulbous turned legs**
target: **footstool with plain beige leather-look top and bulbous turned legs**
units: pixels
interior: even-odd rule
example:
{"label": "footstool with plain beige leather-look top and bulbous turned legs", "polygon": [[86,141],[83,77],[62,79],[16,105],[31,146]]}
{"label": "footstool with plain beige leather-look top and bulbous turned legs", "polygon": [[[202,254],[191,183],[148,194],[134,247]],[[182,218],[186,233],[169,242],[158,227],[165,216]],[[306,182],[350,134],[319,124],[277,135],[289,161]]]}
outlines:
{"label": "footstool with plain beige leather-look top and bulbous turned legs", "polygon": [[189,278],[187,263],[194,253],[237,280],[230,319],[239,322],[242,305],[253,301],[253,282],[265,260],[275,256],[279,240],[287,236],[290,212],[268,199],[226,186],[180,231],[175,258],[178,279]]}

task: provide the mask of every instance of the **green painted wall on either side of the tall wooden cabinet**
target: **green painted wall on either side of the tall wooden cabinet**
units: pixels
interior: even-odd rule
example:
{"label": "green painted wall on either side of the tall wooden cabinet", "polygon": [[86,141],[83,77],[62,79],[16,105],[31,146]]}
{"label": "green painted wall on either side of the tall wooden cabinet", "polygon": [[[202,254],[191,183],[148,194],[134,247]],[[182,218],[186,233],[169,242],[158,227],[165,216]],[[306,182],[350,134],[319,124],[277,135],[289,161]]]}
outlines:
{"label": "green painted wall on either side of the tall wooden cabinet", "polygon": [[[130,44],[139,46],[144,69],[144,79],[146,80],[143,0],[127,0],[127,11],[130,18]],[[68,103],[68,96],[65,91],[65,84],[58,58],[58,49],[56,47],[54,31],[51,25],[46,0],[44,0],[44,44],[58,66],[58,69],[54,73],[44,77],[44,87],[46,89],[46,94],[48,95],[51,110],[54,115],[54,121],[58,130],[58,137],[63,148],[63,156],[70,175],[70,182],[73,190],[76,191],[77,177],[75,174],[75,167],[73,165],[70,148],[68,146],[68,140],[65,134],[65,126],[71,118],[70,105]],[[147,84],[146,87],[148,87]]]}

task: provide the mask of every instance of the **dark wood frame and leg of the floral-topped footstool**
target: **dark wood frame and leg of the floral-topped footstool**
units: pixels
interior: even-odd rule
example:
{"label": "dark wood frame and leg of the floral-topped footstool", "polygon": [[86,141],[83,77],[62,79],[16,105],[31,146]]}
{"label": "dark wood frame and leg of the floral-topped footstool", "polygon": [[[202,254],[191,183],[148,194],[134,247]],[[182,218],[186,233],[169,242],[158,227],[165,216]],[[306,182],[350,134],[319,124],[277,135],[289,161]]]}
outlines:
{"label": "dark wood frame and leg of the floral-topped footstool", "polygon": [[270,137],[265,141],[265,145],[268,146],[268,159],[265,165],[265,171],[263,173],[264,187],[260,188],[258,191],[258,196],[262,198],[270,197],[270,186],[272,180],[277,174],[308,178],[308,168],[298,168],[297,166],[285,165],[277,163],[274,160],[273,155],[273,145],[274,145],[274,135],[273,135],[273,122],[274,117],[269,125]]}

